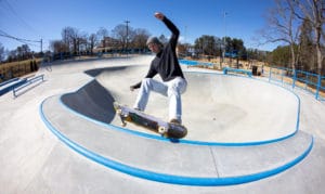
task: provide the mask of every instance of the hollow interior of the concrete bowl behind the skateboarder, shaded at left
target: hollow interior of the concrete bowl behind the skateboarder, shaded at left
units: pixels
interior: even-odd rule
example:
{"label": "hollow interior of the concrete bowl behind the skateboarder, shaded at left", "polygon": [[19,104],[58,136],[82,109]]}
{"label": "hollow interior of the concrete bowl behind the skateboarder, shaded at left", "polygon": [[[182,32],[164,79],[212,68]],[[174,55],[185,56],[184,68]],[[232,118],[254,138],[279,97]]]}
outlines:
{"label": "hollow interior of the concrete bowl behind the skateboarder, shaded at left", "polygon": [[[112,102],[132,106],[136,92],[129,86],[140,81],[147,66],[123,66],[88,70],[94,80],[63,102],[95,120],[120,126]],[[203,142],[260,142],[294,134],[299,125],[299,98],[269,82],[220,74],[185,73],[187,91],[182,95],[186,140]],[[166,96],[151,93],[146,113],[168,118]],[[114,118],[115,117],[115,118]],[[151,133],[134,125],[130,130]],[[154,134],[154,133],[152,133]]]}

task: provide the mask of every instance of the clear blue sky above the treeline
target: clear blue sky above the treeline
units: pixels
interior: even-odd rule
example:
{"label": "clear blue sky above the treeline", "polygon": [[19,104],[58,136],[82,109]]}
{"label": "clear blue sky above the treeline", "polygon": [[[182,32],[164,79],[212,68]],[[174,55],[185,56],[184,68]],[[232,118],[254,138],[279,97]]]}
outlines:
{"label": "clear blue sky above the treeline", "polygon": [[[0,0],[0,30],[27,40],[42,38],[43,50],[51,40],[61,39],[67,26],[92,34],[100,27],[110,31],[128,20],[132,28],[169,36],[154,17],[159,11],[179,27],[182,42],[193,43],[202,35],[229,36],[243,39],[246,48],[272,51],[276,44],[257,46],[253,40],[266,25],[265,13],[272,7],[273,0]],[[5,37],[0,42],[9,50],[23,44]],[[37,42],[29,48],[40,50]]]}

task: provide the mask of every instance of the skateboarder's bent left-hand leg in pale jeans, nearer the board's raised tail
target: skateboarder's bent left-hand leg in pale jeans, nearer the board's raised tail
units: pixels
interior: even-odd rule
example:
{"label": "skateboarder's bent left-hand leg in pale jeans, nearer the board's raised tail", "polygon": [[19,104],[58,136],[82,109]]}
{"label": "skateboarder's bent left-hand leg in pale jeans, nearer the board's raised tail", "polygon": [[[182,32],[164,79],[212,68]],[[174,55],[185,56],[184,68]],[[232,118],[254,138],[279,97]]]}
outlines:
{"label": "skateboarder's bent left-hand leg in pale jeans, nearer the board's raised tail", "polygon": [[168,87],[164,82],[160,82],[152,78],[143,79],[133,107],[140,111],[144,111],[151,91],[155,91],[161,93],[162,95],[167,95],[167,89]]}

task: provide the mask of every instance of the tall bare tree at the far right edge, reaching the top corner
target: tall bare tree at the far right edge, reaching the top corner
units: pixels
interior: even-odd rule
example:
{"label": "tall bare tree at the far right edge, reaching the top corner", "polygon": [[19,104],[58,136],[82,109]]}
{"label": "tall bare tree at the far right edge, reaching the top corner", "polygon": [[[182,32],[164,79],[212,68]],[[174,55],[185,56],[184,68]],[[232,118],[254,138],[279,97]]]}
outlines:
{"label": "tall bare tree at the far right edge, reaching the top corner", "polygon": [[[295,11],[298,18],[308,20],[314,31],[314,43],[317,54],[317,73],[322,74],[324,50],[322,51],[322,37],[325,38],[325,1],[324,0],[294,0],[299,8]],[[323,47],[324,49],[324,47]]]}

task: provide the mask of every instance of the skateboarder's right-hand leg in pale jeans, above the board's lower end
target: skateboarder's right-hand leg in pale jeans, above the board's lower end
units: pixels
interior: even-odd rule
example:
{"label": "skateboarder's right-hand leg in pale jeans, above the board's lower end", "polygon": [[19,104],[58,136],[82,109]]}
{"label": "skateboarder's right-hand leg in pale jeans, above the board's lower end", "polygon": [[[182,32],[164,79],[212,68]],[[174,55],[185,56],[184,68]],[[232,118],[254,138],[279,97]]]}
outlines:
{"label": "skateboarder's right-hand leg in pale jeans, above the board's lower end", "polygon": [[187,82],[183,78],[174,78],[168,81],[169,98],[169,120],[182,122],[182,100],[181,94],[186,91]]}

